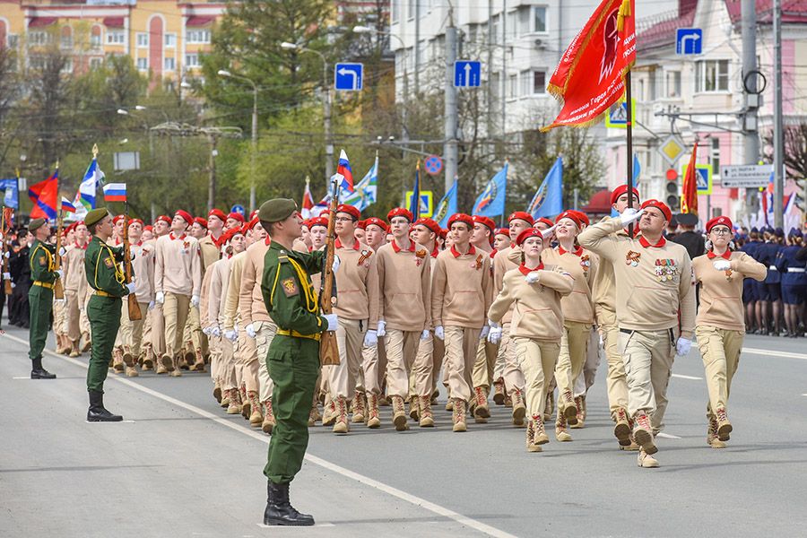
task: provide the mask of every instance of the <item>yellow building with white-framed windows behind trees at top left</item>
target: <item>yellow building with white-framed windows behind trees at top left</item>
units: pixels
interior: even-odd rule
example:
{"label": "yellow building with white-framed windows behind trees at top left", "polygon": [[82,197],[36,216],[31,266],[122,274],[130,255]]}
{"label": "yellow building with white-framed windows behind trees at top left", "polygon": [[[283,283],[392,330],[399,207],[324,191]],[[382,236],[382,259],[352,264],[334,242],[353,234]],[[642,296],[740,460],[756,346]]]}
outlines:
{"label": "yellow building with white-framed windows behind trees at top left", "polygon": [[223,3],[176,0],[0,0],[0,48],[37,67],[42,47],[58,43],[74,73],[125,54],[152,80],[178,81],[201,67],[224,11]]}

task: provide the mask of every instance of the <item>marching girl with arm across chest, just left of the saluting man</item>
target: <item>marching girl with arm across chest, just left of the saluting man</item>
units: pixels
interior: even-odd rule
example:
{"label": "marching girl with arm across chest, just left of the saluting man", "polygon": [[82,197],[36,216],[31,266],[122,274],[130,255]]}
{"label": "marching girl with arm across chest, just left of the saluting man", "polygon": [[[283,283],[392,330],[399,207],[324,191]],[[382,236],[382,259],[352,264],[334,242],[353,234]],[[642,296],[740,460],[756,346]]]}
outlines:
{"label": "marching girl with arm across chest, just left of the saluting man", "polygon": [[562,268],[542,263],[540,230],[522,231],[516,245],[524,251],[525,261],[505,273],[499,296],[488,310],[491,325],[488,338],[493,342],[499,340],[502,334],[499,321],[512,306],[510,345],[515,347],[516,360],[524,371],[530,415],[526,447],[530,452],[541,452],[541,445],[549,442],[543,426],[543,406],[563,334],[560,300],[574,289],[574,281]]}

